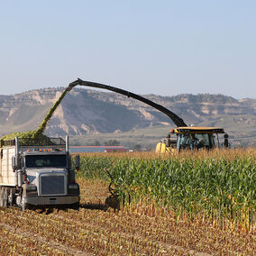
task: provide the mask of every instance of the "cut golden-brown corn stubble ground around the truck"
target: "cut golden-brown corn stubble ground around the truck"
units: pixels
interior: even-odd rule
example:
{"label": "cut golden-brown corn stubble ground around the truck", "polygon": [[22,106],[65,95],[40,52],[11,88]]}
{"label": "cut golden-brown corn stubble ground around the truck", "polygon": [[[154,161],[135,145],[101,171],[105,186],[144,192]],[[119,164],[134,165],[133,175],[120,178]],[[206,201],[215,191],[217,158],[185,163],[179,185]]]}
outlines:
{"label": "cut golden-brown corn stubble ground around the truck", "polygon": [[78,182],[78,211],[1,208],[0,255],[255,255],[255,232],[177,219],[153,205],[105,212],[107,184]]}

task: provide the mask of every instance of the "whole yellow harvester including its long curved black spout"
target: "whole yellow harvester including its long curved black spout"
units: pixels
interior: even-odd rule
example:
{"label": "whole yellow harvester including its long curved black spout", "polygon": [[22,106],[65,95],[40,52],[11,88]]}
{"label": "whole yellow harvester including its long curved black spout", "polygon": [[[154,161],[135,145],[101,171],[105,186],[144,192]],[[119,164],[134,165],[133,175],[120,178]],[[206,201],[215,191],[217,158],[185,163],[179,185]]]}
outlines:
{"label": "whole yellow harvester including its long curved black spout", "polygon": [[[223,128],[217,127],[196,127],[187,126],[187,123],[183,121],[177,114],[174,114],[166,107],[156,104],[151,100],[133,94],[132,92],[125,91],[117,87],[110,87],[104,84],[99,84],[90,81],[83,81],[79,79],[70,83],[66,90],[70,91],[73,87],[85,86],[85,87],[96,87],[101,89],[106,89],[113,91],[115,93],[121,94],[123,96],[133,97],[136,100],[143,102],[146,105],[151,105],[152,107],[158,109],[161,113],[169,116],[170,120],[177,125],[178,128],[171,130],[167,137],[161,140],[156,147],[156,152],[171,152],[171,151],[181,151],[184,149],[194,150],[194,149],[215,149],[216,147],[221,147],[219,142],[218,134],[224,133]],[[171,138],[171,135],[176,134],[176,138]],[[215,142],[215,137],[217,142]],[[224,133],[224,147],[229,147],[228,135]]]}

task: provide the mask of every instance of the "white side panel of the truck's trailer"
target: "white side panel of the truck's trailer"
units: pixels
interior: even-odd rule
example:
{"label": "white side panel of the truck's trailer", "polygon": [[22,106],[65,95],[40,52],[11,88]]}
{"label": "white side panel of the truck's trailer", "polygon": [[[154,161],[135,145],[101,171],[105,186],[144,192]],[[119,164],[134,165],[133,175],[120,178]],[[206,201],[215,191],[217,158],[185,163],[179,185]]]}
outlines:
{"label": "white side panel of the truck's trailer", "polygon": [[3,157],[0,159],[0,186],[15,186],[15,173],[12,168],[15,147],[6,147],[1,150]]}

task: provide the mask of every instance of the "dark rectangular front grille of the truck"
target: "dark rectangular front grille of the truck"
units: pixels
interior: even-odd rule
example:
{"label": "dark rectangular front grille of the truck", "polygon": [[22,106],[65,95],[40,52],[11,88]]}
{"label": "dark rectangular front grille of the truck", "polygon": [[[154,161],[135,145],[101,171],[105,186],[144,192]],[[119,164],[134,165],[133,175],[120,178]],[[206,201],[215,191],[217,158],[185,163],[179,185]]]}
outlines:
{"label": "dark rectangular front grille of the truck", "polygon": [[65,194],[64,176],[50,175],[41,176],[41,196],[64,195]]}

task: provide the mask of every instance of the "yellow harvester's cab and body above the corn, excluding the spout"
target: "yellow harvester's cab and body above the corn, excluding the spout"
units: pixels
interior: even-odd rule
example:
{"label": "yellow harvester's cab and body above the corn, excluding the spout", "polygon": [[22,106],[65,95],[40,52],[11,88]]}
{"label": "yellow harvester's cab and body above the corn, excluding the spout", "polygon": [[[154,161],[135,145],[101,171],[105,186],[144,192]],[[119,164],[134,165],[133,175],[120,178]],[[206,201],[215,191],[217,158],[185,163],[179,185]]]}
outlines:
{"label": "yellow harvester's cab and body above the corn, excluding the spout", "polygon": [[[220,141],[219,134],[224,134],[224,142]],[[162,139],[157,144],[156,152],[164,153],[182,150],[198,151],[221,147],[229,147],[228,134],[224,132],[223,128],[185,126],[170,130],[166,139]]]}

